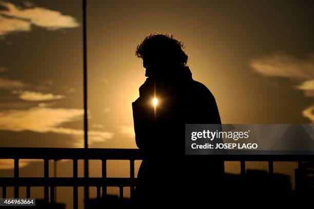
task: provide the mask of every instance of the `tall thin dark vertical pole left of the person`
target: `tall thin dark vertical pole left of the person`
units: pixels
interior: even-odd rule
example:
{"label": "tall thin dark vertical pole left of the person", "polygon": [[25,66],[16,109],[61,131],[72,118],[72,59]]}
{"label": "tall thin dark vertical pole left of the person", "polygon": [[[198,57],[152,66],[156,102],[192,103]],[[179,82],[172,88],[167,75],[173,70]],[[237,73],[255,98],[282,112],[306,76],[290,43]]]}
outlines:
{"label": "tall thin dark vertical pole left of the person", "polygon": [[[87,120],[87,38],[86,38],[86,0],[83,0],[83,88],[84,88],[84,148],[88,149]],[[84,159],[84,177],[88,178],[88,159]],[[89,187],[84,186],[84,202],[89,199]]]}

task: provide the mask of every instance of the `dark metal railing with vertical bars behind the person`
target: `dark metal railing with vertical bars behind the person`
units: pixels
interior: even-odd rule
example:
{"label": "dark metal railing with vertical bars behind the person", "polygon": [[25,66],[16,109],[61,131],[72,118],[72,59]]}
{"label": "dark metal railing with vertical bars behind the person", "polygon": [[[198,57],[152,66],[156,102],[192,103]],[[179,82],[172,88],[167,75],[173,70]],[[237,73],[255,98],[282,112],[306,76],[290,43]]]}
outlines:
{"label": "dark metal railing with vertical bars behind the person", "polygon": [[[288,161],[298,162],[301,166],[303,161],[314,161],[313,155],[224,155],[212,156],[215,159],[224,161],[240,161],[241,175],[245,175],[246,161],[266,161],[268,162],[268,172],[273,174],[273,162]],[[2,186],[2,196],[6,198],[6,188],[14,187],[14,198],[19,196],[19,186],[26,187],[26,197],[30,198],[30,188],[32,186],[44,187],[44,200],[54,201],[54,187],[71,186],[73,187],[73,208],[78,207],[78,186],[95,186],[97,189],[97,198],[107,194],[107,186],[117,186],[120,188],[120,198],[123,198],[123,187],[130,187],[131,198],[134,193],[136,178],[134,176],[134,161],[141,160],[142,156],[138,149],[84,149],[84,148],[0,148],[0,159],[14,160],[14,177],[0,177],[0,186]],[[19,177],[20,159],[42,159],[44,160],[44,177]],[[49,177],[49,160],[73,160],[73,177]],[[102,177],[85,178],[77,175],[77,160],[101,160]],[[108,178],[107,160],[129,160],[130,178]]]}

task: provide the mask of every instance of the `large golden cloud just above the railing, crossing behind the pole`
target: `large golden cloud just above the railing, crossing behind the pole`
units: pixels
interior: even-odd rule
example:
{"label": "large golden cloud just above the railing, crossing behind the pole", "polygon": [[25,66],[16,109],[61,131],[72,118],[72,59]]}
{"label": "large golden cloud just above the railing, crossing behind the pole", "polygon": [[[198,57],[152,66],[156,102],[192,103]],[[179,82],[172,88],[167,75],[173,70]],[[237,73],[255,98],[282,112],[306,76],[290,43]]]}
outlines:
{"label": "large golden cloud just above the railing, crossing behind the pole", "polygon": [[[58,133],[83,137],[84,131],[60,127],[63,123],[82,119],[83,110],[65,108],[35,107],[28,110],[7,110],[0,112],[0,130],[33,131],[38,133]],[[113,137],[113,133],[89,131],[90,143],[105,141]]]}

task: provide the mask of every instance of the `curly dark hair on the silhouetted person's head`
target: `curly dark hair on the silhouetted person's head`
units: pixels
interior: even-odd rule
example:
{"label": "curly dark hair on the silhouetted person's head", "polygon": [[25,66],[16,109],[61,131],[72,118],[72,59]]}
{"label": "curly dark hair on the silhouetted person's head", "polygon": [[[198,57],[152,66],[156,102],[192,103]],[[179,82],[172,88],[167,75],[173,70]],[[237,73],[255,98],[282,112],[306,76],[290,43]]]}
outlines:
{"label": "curly dark hair on the silhouetted person's head", "polygon": [[150,33],[136,47],[135,55],[142,59],[147,57],[163,57],[174,65],[185,66],[188,55],[183,51],[182,41],[170,33]]}

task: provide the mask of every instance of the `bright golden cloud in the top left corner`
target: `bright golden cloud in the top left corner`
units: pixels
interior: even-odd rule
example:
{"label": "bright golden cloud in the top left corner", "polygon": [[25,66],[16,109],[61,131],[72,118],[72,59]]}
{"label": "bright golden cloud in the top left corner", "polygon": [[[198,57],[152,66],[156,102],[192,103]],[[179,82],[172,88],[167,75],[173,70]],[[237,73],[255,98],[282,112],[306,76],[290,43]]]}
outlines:
{"label": "bright golden cloud in the top left corner", "polygon": [[59,11],[41,7],[22,9],[8,2],[0,2],[0,5],[6,8],[0,10],[0,35],[30,31],[32,25],[48,30],[78,27],[75,18]]}

